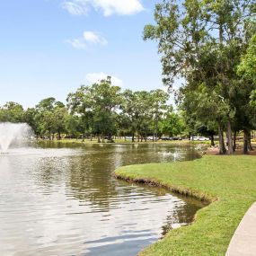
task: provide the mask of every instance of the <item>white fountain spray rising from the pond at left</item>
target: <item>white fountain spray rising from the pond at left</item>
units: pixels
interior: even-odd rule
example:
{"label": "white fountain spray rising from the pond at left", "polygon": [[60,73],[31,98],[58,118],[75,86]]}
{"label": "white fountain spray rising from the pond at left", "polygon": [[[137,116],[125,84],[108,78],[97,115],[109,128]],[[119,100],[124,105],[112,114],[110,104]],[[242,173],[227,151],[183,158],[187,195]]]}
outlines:
{"label": "white fountain spray rising from the pond at left", "polygon": [[8,154],[11,146],[22,146],[32,136],[25,123],[0,123],[0,154]]}

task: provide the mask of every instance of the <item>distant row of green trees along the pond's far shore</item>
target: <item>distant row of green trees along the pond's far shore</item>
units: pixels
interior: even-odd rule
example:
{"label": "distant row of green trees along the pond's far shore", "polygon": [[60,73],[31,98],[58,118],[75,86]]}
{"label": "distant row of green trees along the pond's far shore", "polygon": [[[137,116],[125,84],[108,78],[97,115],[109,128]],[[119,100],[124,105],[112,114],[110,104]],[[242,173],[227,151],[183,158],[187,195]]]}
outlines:
{"label": "distant row of green trees along the pond's far shore", "polygon": [[7,102],[0,107],[0,121],[26,122],[36,137],[48,139],[97,137],[101,142],[112,136],[132,140],[178,136],[185,131],[185,124],[168,100],[169,94],[163,90],[121,92],[108,77],[69,93],[66,104],[47,98],[24,110],[19,103]]}

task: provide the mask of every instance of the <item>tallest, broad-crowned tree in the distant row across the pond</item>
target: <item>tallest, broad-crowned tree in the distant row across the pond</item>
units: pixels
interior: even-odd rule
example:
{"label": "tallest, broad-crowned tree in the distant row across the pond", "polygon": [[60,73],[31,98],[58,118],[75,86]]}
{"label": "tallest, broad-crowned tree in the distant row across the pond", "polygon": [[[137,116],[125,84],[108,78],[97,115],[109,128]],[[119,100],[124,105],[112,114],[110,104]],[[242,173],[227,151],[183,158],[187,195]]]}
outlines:
{"label": "tallest, broad-crowned tree in the distant row across the pond", "polygon": [[71,113],[81,115],[84,132],[91,131],[98,137],[111,139],[116,129],[117,110],[121,103],[119,86],[111,84],[110,77],[99,84],[82,85],[75,93],[67,97]]}

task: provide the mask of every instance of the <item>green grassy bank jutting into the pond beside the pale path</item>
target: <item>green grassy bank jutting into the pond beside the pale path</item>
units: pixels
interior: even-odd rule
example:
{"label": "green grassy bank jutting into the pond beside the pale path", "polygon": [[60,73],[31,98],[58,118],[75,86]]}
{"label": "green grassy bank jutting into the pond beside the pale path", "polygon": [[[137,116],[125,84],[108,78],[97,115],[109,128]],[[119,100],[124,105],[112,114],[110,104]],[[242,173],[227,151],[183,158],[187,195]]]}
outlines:
{"label": "green grassy bank jutting into the pond beside the pale path", "polygon": [[[151,163],[119,168],[118,178],[161,185],[211,201],[192,225],[172,230],[143,256],[225,255],[237,225],[256,200],[256,157],[206,155],[181,163]],[[161,209],[159,209],[161,210]]]}

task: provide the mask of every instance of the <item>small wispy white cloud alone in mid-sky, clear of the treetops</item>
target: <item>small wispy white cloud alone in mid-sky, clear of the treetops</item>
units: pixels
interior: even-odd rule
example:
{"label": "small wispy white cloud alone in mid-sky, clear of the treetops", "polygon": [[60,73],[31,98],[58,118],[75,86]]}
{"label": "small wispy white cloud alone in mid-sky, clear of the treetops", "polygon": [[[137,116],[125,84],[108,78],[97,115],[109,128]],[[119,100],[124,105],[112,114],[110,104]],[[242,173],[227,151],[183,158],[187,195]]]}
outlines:
{"label": "small wispy white cloud alone in mid-sky, clear of the treetops", "polygon": [[75,49],[87,49],[89,44],[100,44],[102,46],[108,44],[106,39],[93,31],[84,31],[83,38],[66,40],[66,42],[71,44]]}

